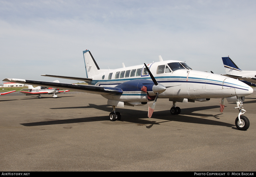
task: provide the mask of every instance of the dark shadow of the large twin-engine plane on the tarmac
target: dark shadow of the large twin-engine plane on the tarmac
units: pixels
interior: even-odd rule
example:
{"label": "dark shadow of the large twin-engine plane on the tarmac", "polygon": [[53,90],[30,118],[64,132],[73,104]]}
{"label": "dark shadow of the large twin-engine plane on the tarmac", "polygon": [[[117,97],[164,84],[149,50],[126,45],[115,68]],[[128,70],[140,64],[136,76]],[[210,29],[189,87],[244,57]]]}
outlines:
{"label": "dark shadow of the large twin-engine plane on the tarmac", "polygon": [[[96,108],[99,110],[107,111],[109,113],[112,111],[112,107],[109,107],[109,105],[94,105],[94,104],[89,104],[89,106],[62,107],[62,108],[50,108],[50,109],[80,109],[80,108],[83,108],[83,109]],[[155,111],[153,113],[152,118],[161,119],[162,121],[159,121],[159,122],[145,120],[145,119],[149,119],[147,117],[147,111],[120,108],[120,112],[122,114],[122,118],[120,121],[146,125],[147,128],[151,128],[153,125],[159,125],[160,123],[168,122],[168,121],[179,121],[179,122],[186,122],[186,123],[217,125],[217,126],[226,126],[226,127],[235,126],[233,124],[228,124],[228,123],[224,123],[217,120],[205,119],[207,117],[214,117],[216,119],[219,119],[218,115],[221,115],[222,113],[217,115],[194,113],[195,111],[213,109],[213,108],[219,108],[219,106],[184,108],[182,109],[182,114],[179,114],[179,115],[170,114],[170,110]],[[193,116],[200,116],[200,118],[193,117]],[[40,126],[40,125],[70,124],[70,123],[82,123],[82,122],[106,121],[106,120],[109,121],[108,116],[84,117],[84,118],[74,118],[74,119],[65,119],[65,120],[50,120],[50,121],[41,121],[41,122],[34,122],[34,123],[24,123],[21,125]],[[109,121],[109,123],[111,123],[111,121]]]}

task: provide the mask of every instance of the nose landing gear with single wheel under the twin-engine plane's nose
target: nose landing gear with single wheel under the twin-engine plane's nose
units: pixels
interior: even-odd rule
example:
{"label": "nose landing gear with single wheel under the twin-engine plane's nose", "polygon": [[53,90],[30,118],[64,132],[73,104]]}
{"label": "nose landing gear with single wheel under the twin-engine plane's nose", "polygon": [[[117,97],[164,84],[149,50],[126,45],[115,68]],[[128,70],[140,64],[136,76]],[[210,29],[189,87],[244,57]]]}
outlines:
{"label": "nose landing gear with single wheel under the twin-engine plane's nose", "polygon": [[[249,119],[244,116],[243,114],[246,112],[246,110],[243,109],[243,101],[244,101],[244,96],[243,97],[237,97],[239,101],[237,100],[237,107],[235,109],[239,110],[238,117],[235,120],[235,124],[238,130],[247,130],[250,126],[250,121]],[[244,111],[242,113],[242,111]]]}

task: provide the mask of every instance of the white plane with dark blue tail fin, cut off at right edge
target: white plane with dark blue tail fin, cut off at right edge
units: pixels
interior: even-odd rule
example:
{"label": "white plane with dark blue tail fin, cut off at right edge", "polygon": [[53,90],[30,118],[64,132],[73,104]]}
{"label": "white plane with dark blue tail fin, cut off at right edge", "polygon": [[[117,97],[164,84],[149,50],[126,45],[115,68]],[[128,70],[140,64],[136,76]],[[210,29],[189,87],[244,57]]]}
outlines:
{"label": "white plane with dark blue tail fin, cut off at right edge", "polygon": [[226,74],[230,78],[238,79],[250,86],[256,86],[256,71],[243,71],[229,58],[222,57],[222,61],[225,67]]}

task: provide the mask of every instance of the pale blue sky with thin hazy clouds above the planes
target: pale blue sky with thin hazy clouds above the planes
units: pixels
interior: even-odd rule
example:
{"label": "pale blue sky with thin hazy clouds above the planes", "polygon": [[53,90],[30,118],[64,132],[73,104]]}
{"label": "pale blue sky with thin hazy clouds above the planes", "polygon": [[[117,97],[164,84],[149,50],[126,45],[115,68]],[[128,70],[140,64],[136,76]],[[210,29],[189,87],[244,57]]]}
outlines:
{"label": "pale blue sky with thin hazy clouds above the planes", "polygon": [[[255,1],[3,1],[0,79],[86,77],[84,50],[100,69],[180,60],[224,74],[221,57],[255,69]],[[60,82],[74,83],[72,80]]]}

